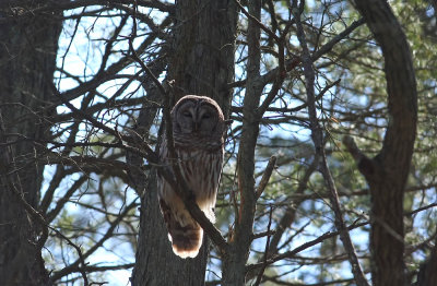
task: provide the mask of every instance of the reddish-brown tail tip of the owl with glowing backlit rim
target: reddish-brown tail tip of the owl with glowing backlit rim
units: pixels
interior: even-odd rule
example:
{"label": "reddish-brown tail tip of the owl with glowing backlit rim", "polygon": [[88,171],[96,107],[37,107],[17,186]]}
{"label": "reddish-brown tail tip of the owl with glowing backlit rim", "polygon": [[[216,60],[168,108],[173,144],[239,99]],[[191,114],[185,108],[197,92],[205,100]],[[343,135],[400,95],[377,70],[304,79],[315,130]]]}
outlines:
{"label": "reddish-brown tail tip of the owl with glowing backlit rim", "polygon": [[169,229],[168,238],[172,241],[173,252],[176,255],[196,258],[202,246],[203,229],[199,225],[187,225]]}

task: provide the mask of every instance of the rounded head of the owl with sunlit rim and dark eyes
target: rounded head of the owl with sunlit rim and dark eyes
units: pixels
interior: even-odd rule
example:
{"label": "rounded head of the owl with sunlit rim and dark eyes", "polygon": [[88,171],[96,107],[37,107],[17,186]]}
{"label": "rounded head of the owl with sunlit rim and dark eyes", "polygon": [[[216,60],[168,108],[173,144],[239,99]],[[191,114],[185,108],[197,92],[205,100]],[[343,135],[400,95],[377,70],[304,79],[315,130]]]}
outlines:
{"label": "rounded head of the owl with sunlit rim and dark eyes", "polygon": [[222,139],[225,120],[222,109],[206,96],[186,95],[172,110],[173,132],[193,138]]}

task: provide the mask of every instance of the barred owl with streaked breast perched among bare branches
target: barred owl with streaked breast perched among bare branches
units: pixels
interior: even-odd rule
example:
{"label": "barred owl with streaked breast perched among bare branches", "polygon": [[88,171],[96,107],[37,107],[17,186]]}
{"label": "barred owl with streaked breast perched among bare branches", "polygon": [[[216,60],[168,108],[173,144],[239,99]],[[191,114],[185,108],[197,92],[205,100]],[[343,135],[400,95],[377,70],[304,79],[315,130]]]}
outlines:
{"label": "barred owl with streaked breast perched among bare branches", "polygon": [[[164,138],[160,160],[179,162],[181,174],[205,216],[215,222],[214,206],[222,174],[223,134],[226,128],[218,105],[205,96],[187,95],[172,110],[173,136],[177,159],[168,158]],[[202,245],[203,229],[191,217],[181,199],[163,177],[157,177],[161,212],[173,251],[181,258],[194,258]]]}

